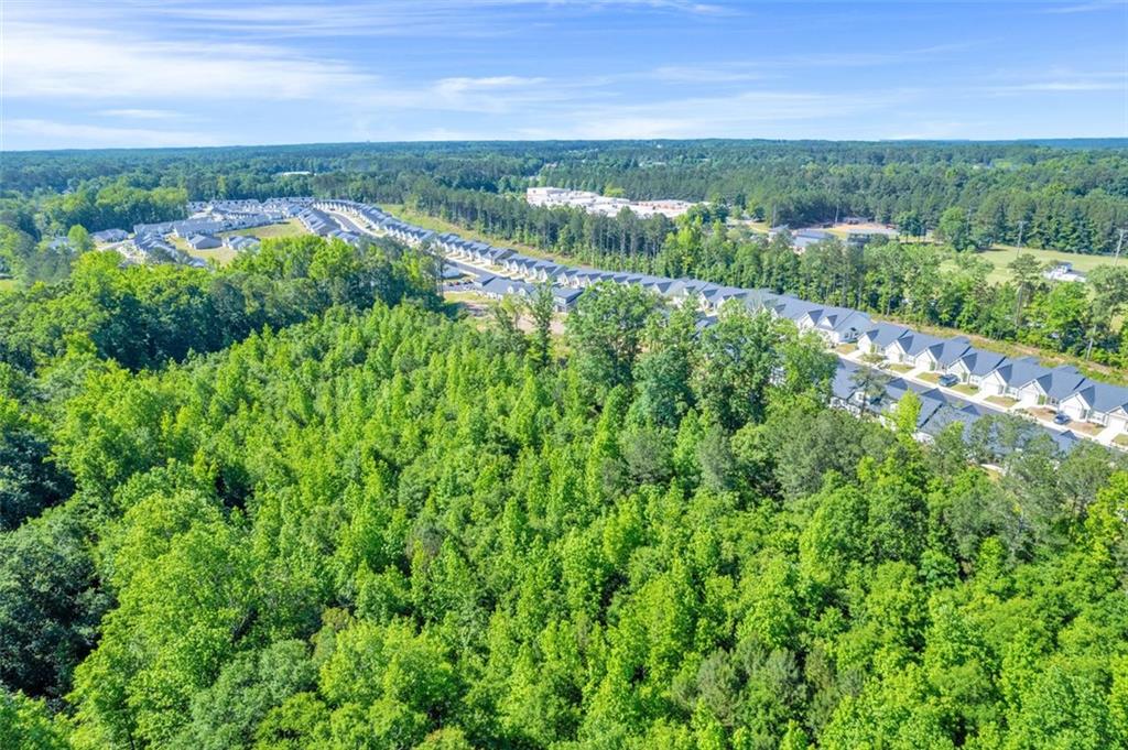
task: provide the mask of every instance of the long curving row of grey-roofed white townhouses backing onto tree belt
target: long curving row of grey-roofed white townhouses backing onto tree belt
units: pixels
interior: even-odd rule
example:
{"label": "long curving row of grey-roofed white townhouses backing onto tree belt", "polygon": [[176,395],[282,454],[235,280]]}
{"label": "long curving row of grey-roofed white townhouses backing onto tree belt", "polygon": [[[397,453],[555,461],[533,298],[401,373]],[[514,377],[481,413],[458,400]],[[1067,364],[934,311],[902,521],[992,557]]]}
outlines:
{"label": "long curving row of grey-roofed white townhouses backing onto tree belt", "polygon": [[[955,376],[960,382],[979,388],[985,395],[1006,396],[1015,406],[1045,406],[1065,413],[1072,420],[1114,427],[1128,433],[1128,389],[1089,379],[1069,367],[1046,368],[1032,358],[1011,359],[980,350],[962,336],[940,338],[918,333],[906,326],[874,321],[866,312],[852,308],[809,302],[764,289],[741,289],[696,279],[668,279],[632,272],[607,272],[558,264],[534,258],[509,248],[467,240],[453,233],[437,235],[388,217],[377,208],[350,203],[350,211],[376,217],[377,226],[403,226],[413,229],[415,242],[451,259],[465,261],[496,270],[508,280],[486,279],[491,294],[528,293],[530,283],[550,283],[554,289],[584,290],[592,284],[609,282],[635,284],[651,290],[673,305],[694,305],[705,316],[704,325],[726,305],[739,305],[752,312],[768,312],[776,318],[794,321],[801,332],[819,335],[829,346],[856,344],[869,354],[908,365],[914,370]],[[360,214],[363,215],[363,214]],[[515,280],[515,282],[514,282]],[[523,283],[526,285],[520,285]],[[517,284],[517,285],[513,285]],[[504,286],[511,292],[501,292]],[[573,300],[574,302],[574,300]],[[897,382],[897,381],[895,381]],[[916,389],[914,387],[914,389]],[[927,389],[929,398],[942,395]],[[933,398],[933,400],[936,400]],[[970,402],[942,404],[944,409],[929,412],[936,424],[951,421],[975,421],[981,407]],[[958,414],[957,414],[958,413]],[[1055,439],[1072,433],[1051,431]]]}

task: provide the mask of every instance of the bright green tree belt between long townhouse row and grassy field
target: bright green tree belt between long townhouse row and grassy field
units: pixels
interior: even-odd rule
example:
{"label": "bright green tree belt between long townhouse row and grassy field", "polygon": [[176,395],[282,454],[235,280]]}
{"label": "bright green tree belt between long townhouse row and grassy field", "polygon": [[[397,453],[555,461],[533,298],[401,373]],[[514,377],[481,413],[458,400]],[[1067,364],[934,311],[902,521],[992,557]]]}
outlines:
{"label": "bright green tree belt between long townhouse row and grassy field", "polygon": [[986,259],[933,244],[881,237],[860,247],[831,238],[800,254],[786,235],[769,240],[708,219],[708,211],[679,219],[654,254],[582,242],[550,249],[594,267],[770,289],[1128,369],[1126,264],[1098,266],[1084,283],[1058,283],[1033,255],[1015,253],[1011,277],[994,281]]}

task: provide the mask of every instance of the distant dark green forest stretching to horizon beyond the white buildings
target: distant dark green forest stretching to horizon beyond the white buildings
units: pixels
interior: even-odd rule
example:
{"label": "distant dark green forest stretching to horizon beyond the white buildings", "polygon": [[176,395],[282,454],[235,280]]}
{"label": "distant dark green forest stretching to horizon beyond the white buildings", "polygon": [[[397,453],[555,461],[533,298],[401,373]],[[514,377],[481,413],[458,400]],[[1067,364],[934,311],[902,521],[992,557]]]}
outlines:
{"label": "distant dark green forest stretching to horizon beyond the white buildings", "polygon": [[[547,237],[566,226],[565,239],[580,236],[603,249],[616,240],[653,248],[649,238],[661,235],[656,227],[632,230],[606,221],[588,222],[580,233],[583,220],[570,212],[496,198],[517,198],[530,184],[610,188],[634,198],[711,201],[793,226],[862,215],[914,233],[936,228],[945,211],[958,208],[975,244],[1021,239],[1031,247],[1111,253],[1128,224],[1128,142],[1066,145],[615,141],[28,152],[6,156],[0,182],[24,197],[100,189],[124,176],[130,186],[178,188],[191,200],[314,194],[418,201],[432,213],[520,226],[525,233]],[[45,215],[41,230],[73,218]]]}

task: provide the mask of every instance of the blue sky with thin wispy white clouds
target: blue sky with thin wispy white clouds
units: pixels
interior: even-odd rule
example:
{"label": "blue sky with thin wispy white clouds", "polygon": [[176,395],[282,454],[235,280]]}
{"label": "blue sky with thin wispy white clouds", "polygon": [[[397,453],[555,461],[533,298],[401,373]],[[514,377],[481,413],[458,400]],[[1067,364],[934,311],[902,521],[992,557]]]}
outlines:
{"label": "blue sky with thin wispy white clouds", "polygon": [[1128,136],[1128,0],[2,0],[2,149]]}

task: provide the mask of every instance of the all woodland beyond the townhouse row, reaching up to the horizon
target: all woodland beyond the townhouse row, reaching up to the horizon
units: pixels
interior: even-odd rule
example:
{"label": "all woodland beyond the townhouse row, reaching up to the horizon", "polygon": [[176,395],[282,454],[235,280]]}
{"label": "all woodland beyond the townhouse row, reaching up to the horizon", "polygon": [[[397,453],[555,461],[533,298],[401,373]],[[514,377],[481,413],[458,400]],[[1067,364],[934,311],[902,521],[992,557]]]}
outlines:
{"label": "all woodland beyond the townhouse row, reaching up to the horizon", "polygon": [[[1050,284],[969,250],[995,242],[1111,253],[1128,228],[1120,141],[829,143],[653,141],[337,144],[7,155],[0,277],[63,280],[88,233],[184,214],[211,197],[321,195],[404,204],[499,241],[610,270],[761,286],[1128,368],[1128,271]],[[528,205],[532,184],[707,200],[686,220]],[[862,214],[901,237],[796,255],[738,217],[793,224]],[[931,232],[936,242],[917,242]],[[61,239],[62,238],[62,239]],[[65,240],[65,241],[64,241]],[[1111,258],[1110,258],[1111,264]]]}

